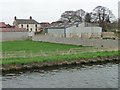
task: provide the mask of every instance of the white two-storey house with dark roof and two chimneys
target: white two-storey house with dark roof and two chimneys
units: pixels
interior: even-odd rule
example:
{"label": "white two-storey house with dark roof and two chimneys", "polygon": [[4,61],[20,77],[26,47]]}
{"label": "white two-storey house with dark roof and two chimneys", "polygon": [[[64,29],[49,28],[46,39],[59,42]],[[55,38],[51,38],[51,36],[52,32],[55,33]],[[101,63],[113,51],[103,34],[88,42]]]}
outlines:
{"label": "white two-storey house with dark roof and two chimneys", "polygon": [[17,19],[17,17],[14,17],[13,25],[18,28],[26,28],[27,31],[33,31],[37,32],[40,29],[40,24],[32,19],[30,16],[29,19]]}

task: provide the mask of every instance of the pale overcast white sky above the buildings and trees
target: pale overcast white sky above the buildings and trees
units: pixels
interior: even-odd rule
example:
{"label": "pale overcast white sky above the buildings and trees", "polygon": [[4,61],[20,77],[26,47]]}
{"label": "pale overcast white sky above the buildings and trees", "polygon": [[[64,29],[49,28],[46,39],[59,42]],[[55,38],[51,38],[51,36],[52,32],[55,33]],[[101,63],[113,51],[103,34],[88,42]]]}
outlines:
{"label": "pale overcast white sky above the buildings and trees", "polygon": [[120,0],[0,0],[0,22],[11,24],[14,16],[38,22],[57,21],[64,11],[83,9],[92,12],[96,6],[105,6],[118,17]]}

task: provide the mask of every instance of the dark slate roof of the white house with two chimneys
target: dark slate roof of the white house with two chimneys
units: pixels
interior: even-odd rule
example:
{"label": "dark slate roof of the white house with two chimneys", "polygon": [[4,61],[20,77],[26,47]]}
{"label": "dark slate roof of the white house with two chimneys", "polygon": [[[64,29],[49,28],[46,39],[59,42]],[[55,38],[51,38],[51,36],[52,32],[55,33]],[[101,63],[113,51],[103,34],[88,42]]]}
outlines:
{"label": "dark slate roof of the white house with two chimneys", "polygon": [[15,20],[18,24],[39,24],[34,19],[16,19]]}

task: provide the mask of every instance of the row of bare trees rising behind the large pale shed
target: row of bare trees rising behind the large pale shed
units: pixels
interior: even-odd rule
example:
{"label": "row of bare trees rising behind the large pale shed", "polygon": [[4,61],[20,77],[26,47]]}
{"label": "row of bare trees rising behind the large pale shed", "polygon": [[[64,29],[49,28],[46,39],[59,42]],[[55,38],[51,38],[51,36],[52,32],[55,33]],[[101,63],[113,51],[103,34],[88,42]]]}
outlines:
{"label": "row of bare trees rising behind the large pale shed", "polygon": [[85,12],[83,9],[77,11],[65,11],[59,19],[63,22],[89,22],[96,23],[103,28],[103,31],[120,30],[120,18],[116,19],[112,11],[104,6],[97,6],[92,12]]}

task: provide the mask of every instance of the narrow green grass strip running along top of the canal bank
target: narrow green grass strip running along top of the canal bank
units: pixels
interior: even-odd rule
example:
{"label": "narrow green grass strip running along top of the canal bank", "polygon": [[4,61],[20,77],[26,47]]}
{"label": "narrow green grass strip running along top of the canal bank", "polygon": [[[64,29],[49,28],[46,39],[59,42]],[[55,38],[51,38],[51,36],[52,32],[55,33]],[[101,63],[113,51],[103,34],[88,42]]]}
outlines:
{"label": "narrow green grass strip running along top of the canal bank", "polygon": [[93,53],[81,53],[71,55],[58,55],[58,56],[47,56],[47,57],[33,57],[33,58],[9,58],[3,59],[2,64],[26,64],[26,63],[38,63],[38,62],[51,62],[51,61],[62,61],[62,60],[77,60],[81,58],[97,58],[103,56],[115,56],[119,55],[117,51],[111,52],[93,52]]}

